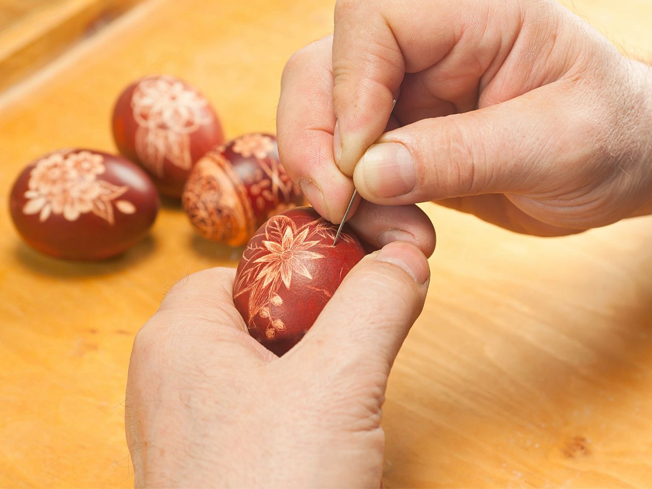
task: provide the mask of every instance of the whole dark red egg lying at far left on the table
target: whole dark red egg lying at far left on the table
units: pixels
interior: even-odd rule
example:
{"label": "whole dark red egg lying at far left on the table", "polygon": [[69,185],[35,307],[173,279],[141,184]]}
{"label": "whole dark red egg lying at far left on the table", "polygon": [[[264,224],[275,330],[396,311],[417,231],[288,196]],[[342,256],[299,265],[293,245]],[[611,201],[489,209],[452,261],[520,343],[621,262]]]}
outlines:
{"label": "whole dark red egg lying at far left on the table", "polygon": [[138,243],[158,213],[158,194],[143,170],[121,156],[62,149],[20,173],[9,207],[32,248],[56,258],[93,260]]}

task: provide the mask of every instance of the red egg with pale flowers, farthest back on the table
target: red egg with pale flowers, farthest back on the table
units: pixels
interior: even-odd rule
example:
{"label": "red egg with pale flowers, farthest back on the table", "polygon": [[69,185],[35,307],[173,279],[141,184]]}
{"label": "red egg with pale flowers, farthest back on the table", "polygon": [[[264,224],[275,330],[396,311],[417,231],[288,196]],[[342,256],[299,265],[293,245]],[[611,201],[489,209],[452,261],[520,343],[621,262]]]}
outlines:
{"label": "red egg with pale flowers, farthest back on the table", "polygon": [[209,101],[170,75],[129,85],[113,110],[113,138],[126,158],[151,175],[158,190],[179,198],[190,168],[224,140]]}

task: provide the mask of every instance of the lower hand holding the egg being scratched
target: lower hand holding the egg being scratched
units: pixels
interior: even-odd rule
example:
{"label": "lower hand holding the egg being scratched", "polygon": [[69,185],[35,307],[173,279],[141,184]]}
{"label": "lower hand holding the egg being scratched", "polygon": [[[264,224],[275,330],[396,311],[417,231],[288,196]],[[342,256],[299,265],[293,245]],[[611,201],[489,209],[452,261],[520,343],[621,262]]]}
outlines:
{"label": "lower hand holding the egg being scratched", "polygon": [[136,336],[126,436],[136,487],[372,487],[389,370],[423,306],[410,243],[366,256],[276,357],[246,333],[232,269],[177,284]]}

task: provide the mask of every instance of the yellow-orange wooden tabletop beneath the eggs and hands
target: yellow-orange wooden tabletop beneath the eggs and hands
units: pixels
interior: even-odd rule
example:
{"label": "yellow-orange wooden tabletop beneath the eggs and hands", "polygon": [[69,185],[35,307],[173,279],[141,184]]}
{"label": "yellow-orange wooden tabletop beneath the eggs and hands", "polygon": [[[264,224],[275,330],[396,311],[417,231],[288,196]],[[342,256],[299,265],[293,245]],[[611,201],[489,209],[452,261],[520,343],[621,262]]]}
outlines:
{"label": "yellow-orange wooden tabletop beneath the eggs and hands", "polygon": [[[627,50],[652,45],[648,0],[574,7]],[[273,131],[284,62],[332,8],[149,0],[0,98],[0,486],[131,486],[134,334],[177,280],[241,251],[168,206],[121,258],[40,256],[8,217],[18,170],[57,147],[113,151],[113,100],[149,72],[195,83],[228,136]],[[652,486],[652,219],[538,239],[424,208],[438,243],[387,392],[386,486]]]}

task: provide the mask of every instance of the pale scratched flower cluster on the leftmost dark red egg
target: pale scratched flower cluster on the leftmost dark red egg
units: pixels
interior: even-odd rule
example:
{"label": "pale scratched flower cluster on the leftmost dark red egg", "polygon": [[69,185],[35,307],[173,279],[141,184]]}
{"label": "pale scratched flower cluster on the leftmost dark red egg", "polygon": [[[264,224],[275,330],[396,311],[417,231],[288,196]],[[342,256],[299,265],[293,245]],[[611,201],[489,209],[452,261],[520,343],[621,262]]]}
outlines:
{"label": "pale scratched flower cluster on the leftmost dark red egg", "polygon": [[104,156],[90,151],[63,151],[42,158],[29,173],[23,213],[38,214],[38,220],[44,222],[52,214],[74,221],[92,212],[109,224],[115,222],[113,205],[121,213],[135,213],[130,201],[114,202],[128,186],[98,180],[104,171]]}

